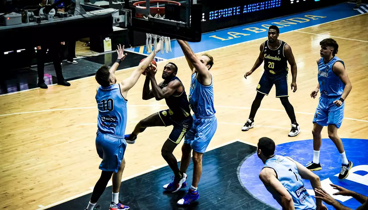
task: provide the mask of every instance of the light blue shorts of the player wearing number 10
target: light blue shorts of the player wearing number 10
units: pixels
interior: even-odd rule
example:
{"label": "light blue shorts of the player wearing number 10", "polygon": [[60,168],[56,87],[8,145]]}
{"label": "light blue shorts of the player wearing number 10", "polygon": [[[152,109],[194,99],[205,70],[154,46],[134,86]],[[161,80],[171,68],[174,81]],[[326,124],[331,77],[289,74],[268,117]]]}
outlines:
{"label": "light blue shorts of the player wearing number 10", "polygon": [[124,136],[119,137],[97,131],[96,149],[102,159],[99,169],[117,172],[123,160],[126,147],[127,142],[125,142]]}

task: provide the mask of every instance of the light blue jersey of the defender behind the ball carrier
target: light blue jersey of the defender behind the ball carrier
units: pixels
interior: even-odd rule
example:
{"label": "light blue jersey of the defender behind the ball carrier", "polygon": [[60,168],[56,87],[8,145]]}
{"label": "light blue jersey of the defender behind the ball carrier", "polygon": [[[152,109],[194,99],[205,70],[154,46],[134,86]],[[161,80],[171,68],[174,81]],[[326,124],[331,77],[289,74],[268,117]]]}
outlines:
{"label": "light blue jersey of the defender behind the ball carrier", "polygon": [[[211,76],[212,77],[212,76]],[[213,81],[210,85],[202,85],[197,80],[197,72],[192,74],[189,103],[197,118],[210,118],[216,113],[213,107]]]}

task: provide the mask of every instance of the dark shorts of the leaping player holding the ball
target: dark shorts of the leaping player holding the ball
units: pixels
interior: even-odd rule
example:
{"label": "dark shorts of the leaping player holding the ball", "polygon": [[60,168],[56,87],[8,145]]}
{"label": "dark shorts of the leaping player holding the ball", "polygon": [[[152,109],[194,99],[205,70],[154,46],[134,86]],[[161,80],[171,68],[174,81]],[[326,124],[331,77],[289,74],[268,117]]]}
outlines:
{"label": "dark shorts of the leaping player holding the ball", "polygon": [[181,139],[187,134],[189,129],[192,127],[192,116],[184,119],[175,119],[173,116],[173,112],[170,109],[159,111],[159,116],[165,125],[165,127],[169,125],[173,125],[174,128],[169,135],[169,140],[178,144]]}

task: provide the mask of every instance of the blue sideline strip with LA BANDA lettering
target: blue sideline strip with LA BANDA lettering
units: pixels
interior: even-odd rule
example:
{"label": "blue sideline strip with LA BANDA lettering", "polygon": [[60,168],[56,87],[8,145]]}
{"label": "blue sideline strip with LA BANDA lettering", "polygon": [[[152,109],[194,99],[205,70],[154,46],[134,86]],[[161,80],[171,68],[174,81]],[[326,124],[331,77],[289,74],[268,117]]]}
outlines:
{"label": "blue sideline strip with LA BANDA lettering", "polygon": [[[190,43],[190,46],[195,53],[198,53],[263,37],[266,38],[270,25],[279,26],[280,33],[283,33],[361,14],[359,11],[353,10],[353,7],[354,4],[343,3],[319,10],[205,33],[202,34],[201,42]],[[145,46],[127,50],[147,54]],[[166,59],[181,56],[184,56],[184,54],[176,40],[171,41],[170,53],[157,54],[157,57]]]}

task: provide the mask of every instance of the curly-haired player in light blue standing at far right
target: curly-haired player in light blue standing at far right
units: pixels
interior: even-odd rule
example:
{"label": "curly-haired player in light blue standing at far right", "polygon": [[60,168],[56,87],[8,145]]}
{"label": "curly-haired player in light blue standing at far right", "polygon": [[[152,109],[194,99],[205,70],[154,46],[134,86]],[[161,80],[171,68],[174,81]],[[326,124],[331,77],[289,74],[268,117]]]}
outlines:
{"label": "curly-haired player in light blue standing at far right", "polygon": [[321,45],[322,58],[317,60],[318,85],[312,91],[311,97],[315,98],[318,91],[321,92],[321,97],[319,97],[313,119],[313,161],[307,168],[311,171],[322,170],[319,163],[319,151],[322,144],[321,131],[323,126],[327,126],[328,136],[335,143],[342,159],[339,179],[345,179],[353,163],[346,158],[343,142],[337,135],[337,129],[340,128],[344,118],[344,100],[353,86],[346,73],[344,62],[335,56],[339,49],[336,41],[323,39],[319,45]]}

